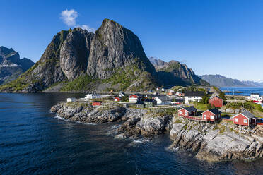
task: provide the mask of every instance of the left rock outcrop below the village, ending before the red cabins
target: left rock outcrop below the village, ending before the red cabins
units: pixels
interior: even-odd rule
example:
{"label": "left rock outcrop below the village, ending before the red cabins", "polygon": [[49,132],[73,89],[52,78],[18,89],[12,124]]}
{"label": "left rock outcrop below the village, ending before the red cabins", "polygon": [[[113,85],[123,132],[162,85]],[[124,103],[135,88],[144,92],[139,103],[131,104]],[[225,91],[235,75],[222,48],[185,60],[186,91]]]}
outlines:
{"label": "left rock outcrop below the village, ending before the red cabins", "polygon": [[50,110],[64,119],[83,123],[106,123],[124,121],[115,134],[122,138],[151,137],[170,129],[169,123],[173,116],[168,114],[147,114],[145,109],[121,107],[116,104],[111,107],[92,107],[88,103],[69,102],[54,105]]}

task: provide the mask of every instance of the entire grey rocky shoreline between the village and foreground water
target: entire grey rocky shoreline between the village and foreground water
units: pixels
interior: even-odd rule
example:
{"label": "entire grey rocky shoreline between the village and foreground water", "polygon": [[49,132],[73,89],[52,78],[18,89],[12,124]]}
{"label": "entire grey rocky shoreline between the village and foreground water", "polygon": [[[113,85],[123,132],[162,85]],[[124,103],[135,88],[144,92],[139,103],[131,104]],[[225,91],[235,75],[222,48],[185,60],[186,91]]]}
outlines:
{"label": "entire grey rocky shoreline between the village and foreground water", "polygon": [[172,109],[135,109],[117,103],[93,107],[86,102],[63,102],[51,111],[69,121],[83,123],[119,122],[113,133],[117,138],[151,138],[170,133],[170,150],[192,150],[195,157],[208,162],[263,157],[263,127],[238,133],[229,123],[189,121],[177,117]]}

